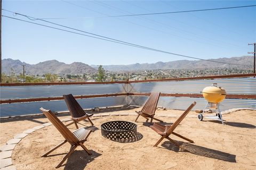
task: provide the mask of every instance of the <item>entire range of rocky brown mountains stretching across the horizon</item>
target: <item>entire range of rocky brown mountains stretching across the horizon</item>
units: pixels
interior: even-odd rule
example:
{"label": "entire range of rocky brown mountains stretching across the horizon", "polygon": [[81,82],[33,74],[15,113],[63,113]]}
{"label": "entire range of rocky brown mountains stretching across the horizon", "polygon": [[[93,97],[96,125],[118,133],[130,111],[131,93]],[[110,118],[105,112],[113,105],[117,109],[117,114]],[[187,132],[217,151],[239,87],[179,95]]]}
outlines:
{"label": "entire range of rocky brown mountains stretching across the horizon", "polygon": [[[233,68],[233,67],[245,67],[242,65],[253,65],[252,56],[242,57],[230,57],[230,58],[218,58],[212,59],[212,61],[234,63],[241,65],[230,65],[224,63],[207,62],[203,60],[199,61],[188,61],[179,60],[172,62],[157,62],[157,63],[143,63],[143,64],[129,64],[129,65],[102,65],[102,67],[111,72],[119,71],[144,71],[144,70],[165,70],[165,69],[213,69],[213,68]],[[74,62],[66,64],[57,60],[44,61],[37,64],[28,64],[21,62],[20,60],[12,60],[11,58],[2,60],[2,72],[10,74],[11,69],[16,74],[23,72],[23,66],[25,65],[26,74],[94,74],[97,73],[97,65],[88,65],[81,62]]]}

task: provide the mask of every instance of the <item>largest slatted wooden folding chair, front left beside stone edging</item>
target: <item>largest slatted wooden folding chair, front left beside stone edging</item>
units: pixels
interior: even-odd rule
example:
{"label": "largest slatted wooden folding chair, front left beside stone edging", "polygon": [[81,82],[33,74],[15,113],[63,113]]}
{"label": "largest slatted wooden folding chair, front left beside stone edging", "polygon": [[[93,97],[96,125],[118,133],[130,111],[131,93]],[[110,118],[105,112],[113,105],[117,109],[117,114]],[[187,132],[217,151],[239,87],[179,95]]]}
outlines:
{"label": "largest slatted wooden folding chair, front left beside stone edging", "polygon": [[75,130],[74,132],[71,132],[58,118],[55,116],[54,113],[52,113],[50,110],[46,110],[44,108],[40,108],[40,110],[43,112],[43,114],[49,119],[49,121],[57,128],[57,130],[62,134],[62,136],[65,138],[63,142],[61,142],[59,145],[55,146],[51,150],[47,151],[42,157],[47,156],[55,149],[62,146],[64,143],[69,142],[71,147],[69,152],[61,162],[56,166],[56,168],[59,168],[63,162],[73,153],[73,151],[76,149],[76,147],[81,146],[89,155],[92,155],[91,152],[83,145],[83,143],[87,140],[89,137],[91,130],[86,130],[85,128],[80,128]]}

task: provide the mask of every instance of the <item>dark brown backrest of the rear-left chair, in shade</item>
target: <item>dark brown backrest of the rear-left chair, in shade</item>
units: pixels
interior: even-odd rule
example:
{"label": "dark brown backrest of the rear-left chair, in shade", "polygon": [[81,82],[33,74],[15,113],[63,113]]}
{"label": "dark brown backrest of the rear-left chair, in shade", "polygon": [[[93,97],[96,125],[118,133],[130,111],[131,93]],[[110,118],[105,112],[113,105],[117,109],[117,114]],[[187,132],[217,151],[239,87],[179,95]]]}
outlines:
{"label": "dark brown backrest of the rear-left chair, in shade", "polygon": [[63,95],[72,117],[82,117],[85,115],[83,108],[78,104],[72,94]]}

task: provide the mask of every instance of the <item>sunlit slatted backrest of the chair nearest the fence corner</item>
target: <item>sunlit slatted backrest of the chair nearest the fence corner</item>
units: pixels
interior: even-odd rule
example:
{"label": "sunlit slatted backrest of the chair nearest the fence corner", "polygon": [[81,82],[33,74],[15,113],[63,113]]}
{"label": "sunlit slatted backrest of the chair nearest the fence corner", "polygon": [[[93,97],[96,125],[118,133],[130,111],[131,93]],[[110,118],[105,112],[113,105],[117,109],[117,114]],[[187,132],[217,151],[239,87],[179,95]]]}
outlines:
{"label": "sunlit slatted backrest of the chair nearest the fence corner", "polygon": [[151,92],[145,105],[141,109],[141,113],[154,115],[156,112],[156,106],[160,97],[160,92]]}

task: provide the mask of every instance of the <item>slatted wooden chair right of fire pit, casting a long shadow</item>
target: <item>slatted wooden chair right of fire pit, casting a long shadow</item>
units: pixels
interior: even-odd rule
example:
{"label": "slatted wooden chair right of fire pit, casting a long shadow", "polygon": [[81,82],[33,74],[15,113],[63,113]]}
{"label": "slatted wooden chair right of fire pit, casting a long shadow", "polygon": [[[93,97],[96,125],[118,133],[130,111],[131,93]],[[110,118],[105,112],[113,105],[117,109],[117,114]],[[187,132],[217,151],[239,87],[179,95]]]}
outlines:
{"label": "slatted wooden chair right of fire pit, casting a long shadow", "polygon": [[193,140],[190,140],[186,137],[183,137],[182,135],[173,132],[175,130],[175,128],[177,128],[177,126],[180,124],[180,122],[183,120],[183,118],[191,111],[191,109],[196,105],[196,102],[194,101],[193,104],[191,104],[187,110],[178,118],[177,121],[175,121],[172,125],[163,125],[161,123],[154,123],[153,125],[150,126],[151,129],[153,129],[154,131],[156,131],[159,135],[161,135],[162,137],[156,142],[156,144],[154,145],[154,147],[157,147],[157,145],[164,139],[168,139],[170,140],[175,146],[180,147],[179,143],[172,140],[169,135],[170,134],[174,134],[177,137],[180,137],[182,139],[185,139],[191,143],[194,143]]}

